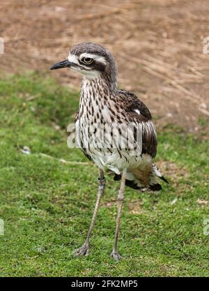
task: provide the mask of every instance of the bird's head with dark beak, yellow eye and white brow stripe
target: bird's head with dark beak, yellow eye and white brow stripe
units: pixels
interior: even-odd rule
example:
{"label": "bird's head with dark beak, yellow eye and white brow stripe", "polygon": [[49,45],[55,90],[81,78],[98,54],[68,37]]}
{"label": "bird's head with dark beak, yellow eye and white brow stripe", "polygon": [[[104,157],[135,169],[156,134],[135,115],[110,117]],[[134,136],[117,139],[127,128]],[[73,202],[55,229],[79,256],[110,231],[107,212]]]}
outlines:
{"label": "bird's head with dark beak, yellow eye and white brow stripe", "polygon": [[111,53],[95,43],[79,43],[70,50],[68,58],[54,64],[51,70],[71,68],[88,79],[102,78],[116,84],[116,62]]}

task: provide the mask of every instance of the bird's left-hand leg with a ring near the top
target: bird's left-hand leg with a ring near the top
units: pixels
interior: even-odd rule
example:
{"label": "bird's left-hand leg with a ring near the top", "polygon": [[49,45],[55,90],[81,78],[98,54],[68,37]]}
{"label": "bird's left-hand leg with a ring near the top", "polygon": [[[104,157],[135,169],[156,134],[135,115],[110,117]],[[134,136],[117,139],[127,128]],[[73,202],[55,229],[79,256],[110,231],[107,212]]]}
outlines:
{"label": "bird's left-hand leg with a ring near the top", "polygon": [[98,197],[97,200],[95,202],[95,208],[93,211],[93,216],[91,219],[91,225],[89,227],[88,230],[88,234],[86,237],[86,241],[84,242],[83,246],[81,248],[79,248],[77,251],[75,251],[75,257],[79,256],[79,255],[88,255],[89,254],[89,239],[91,237],[91,232],[93,230],[93,226],[95,224],[95,218],[97,217],[98,214],[98,209],[100,207],[100,200],[101,197],[104,193],[104,187],[105,187],[105,178],[104,178],[104,172],[102,170],[99,169],[99,178],[98,178]]}

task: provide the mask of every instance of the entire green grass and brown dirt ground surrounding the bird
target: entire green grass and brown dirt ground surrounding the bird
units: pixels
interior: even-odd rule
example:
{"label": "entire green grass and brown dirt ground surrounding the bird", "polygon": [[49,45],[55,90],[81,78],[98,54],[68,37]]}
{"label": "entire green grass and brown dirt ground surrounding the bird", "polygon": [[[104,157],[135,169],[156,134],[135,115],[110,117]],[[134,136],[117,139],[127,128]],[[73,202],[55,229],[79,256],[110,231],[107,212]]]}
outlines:
{"label": "entire green grass and brown dirt ground surrounding the bird", "polygon": [[[208,0],[0,1],[0,276],[209,276]],[[89,258],[74,258],[91,222],[98,169],[67,147],[81,76],[49,70],[83,41],[107,47],[118,86],[148,105],[156,163],[171,184],[107,188]]]}

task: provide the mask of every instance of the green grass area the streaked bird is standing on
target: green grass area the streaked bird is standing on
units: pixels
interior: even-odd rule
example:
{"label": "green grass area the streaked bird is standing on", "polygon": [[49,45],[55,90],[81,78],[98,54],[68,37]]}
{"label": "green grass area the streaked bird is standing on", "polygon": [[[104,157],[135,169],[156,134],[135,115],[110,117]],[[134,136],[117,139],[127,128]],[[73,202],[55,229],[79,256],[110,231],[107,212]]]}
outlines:
{"label": "green grass area the streaked bird is standing on", "polygon": [[[79,94],[35,73],[0,80],[0,275],[208,276],[208,204],[197,200],[208,200],[209,142],[172,126],[158,134],[157,153],[160,164],[168,163],[171,185],[157,194],[126,188],[119,241],[124,259],[109,257],[119,186],[111,177],[90,255],[73,258],[86,237],[97,188],[94,165],[59,161],[87,162],[66,145],[65,128],[78,103]],[[22,154],[24,146],[31,154]]]}

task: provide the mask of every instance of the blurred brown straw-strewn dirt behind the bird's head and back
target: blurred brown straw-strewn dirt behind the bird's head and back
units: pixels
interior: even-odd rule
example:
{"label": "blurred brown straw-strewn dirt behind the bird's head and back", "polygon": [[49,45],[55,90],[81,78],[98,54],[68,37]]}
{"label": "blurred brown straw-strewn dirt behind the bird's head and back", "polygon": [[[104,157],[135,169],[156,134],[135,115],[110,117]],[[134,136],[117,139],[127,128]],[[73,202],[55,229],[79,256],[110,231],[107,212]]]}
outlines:
{"label": "blurred brown straw-strewn dirt behind the bird's head and back", "polygon": [[118,64],[118,83],[150,107],[157,126],[187,130],[208,120],[208,0],[1,1],[0,70],[40,70],[79,87],[68,71],[50,72],[72,45],[93,41],[107,47]]}

